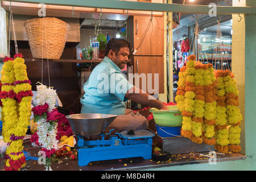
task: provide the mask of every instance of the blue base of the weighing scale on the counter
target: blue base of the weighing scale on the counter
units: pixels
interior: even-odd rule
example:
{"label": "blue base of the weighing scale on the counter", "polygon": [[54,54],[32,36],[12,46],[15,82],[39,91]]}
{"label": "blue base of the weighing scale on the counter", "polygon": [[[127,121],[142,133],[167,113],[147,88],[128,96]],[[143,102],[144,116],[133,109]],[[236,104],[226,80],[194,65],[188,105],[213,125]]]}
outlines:
{"label": "blue base of the weighing scale on the counter", "polygon": [[[149,131],[147,131],[149,132]],[[110,131],[111,133],[111,131]],[[142,157],[143,159],[151,159],[152,157],[152,137],[150,133],[145,136],[122,135],[111,136],[109,140],[85,140],[78,137],[78,164],[79,166],[87,166],[90,162],[101,160],[113,160],[124,158]]]}

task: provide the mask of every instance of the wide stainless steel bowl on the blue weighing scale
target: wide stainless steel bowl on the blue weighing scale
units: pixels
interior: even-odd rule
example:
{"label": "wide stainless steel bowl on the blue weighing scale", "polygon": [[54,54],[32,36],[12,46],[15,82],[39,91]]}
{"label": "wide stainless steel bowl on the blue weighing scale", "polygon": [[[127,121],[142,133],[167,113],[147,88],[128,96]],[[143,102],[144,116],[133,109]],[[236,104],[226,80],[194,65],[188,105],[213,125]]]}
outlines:
{"label": "wide stainless steel bowl on the blue weighing scale", "polygon": [[105,133],[106,128],[114,121],[114,114],[72,114],[67,115],[72,131],[81,136],[93,136]]}

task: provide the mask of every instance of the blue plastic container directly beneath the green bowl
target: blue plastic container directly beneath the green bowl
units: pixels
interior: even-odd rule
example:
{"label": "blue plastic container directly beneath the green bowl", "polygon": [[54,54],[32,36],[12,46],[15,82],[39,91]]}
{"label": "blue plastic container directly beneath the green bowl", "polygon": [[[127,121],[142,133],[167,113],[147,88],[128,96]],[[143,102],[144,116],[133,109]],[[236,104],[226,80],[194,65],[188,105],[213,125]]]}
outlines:
{"label": "blue plastic container directly beneath the green bowl", "polygon": [[166,138],[166,137],[181,137],[180,130],[181,127],[164,127],[164,126],[158,126],[155,125],[156,132],[160,137]]}

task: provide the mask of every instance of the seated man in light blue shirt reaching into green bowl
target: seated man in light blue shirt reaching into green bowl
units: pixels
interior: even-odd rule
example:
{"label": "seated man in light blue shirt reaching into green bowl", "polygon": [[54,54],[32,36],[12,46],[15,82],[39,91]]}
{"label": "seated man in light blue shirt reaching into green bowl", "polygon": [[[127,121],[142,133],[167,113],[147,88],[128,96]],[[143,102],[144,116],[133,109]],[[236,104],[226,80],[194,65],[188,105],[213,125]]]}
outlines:
{"label": "seated man in light blue shirt reaching into green bowl", "polygon": [[[81,113],[117,114],[110,127],[116,132],[122,130],[147,129],[146,118],[130,116],[132,112],[125,108],[125,102],[132,100],[143,106],[168,109],[163,102],[155,100],[136,88],[122,75],[131,46],[124,39],[110,39],[106,46],[104,60],[97,65],[84,84],[85,94],[81,97]],[[129,115],[129,116],[128,116]]]}

